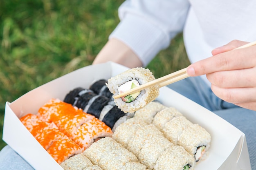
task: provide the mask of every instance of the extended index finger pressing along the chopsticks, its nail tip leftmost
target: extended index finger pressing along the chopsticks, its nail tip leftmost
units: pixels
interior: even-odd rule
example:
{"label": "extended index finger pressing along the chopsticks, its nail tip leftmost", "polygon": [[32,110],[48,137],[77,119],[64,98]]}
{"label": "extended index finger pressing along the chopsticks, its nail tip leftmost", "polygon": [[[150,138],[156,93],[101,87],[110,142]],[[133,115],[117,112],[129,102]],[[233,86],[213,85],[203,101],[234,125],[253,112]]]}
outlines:
{"label": "extended index finger pressing along the chopsticks, its nail tip leftmost", "polygon": [[188,66],[190,76],[204,75],[216,71],[252,68],[256,65],[256,46],[236,49],[200,60]]}

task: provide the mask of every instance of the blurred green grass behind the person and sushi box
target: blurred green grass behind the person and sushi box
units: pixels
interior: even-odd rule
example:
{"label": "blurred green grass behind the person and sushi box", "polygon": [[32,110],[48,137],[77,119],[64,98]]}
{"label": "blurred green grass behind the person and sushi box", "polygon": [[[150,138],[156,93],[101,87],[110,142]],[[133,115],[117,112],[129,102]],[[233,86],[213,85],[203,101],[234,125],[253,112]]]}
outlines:
{"label": "blurred green grass behind the person and sushi box", "polygon": [[[5,102],[90,65],[119,23],[123,1],[0,1],[0,139]],[[158,78],[188,65],[179,34],[147,68]]]}

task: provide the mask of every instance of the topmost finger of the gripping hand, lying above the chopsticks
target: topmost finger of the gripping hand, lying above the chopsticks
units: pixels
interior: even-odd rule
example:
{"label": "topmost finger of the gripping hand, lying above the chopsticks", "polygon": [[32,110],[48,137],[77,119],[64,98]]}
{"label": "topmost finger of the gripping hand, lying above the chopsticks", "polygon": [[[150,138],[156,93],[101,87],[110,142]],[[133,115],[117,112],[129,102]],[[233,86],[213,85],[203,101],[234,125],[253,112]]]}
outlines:
{"label": "topmost finger of the gripping hand, lying above the chopsticks", "polygon": [[211,53],[212,53],[212,55],[217,55],[219,53],[223,53],[223,52],[226,52],[226,51],[236,49],[237,47],[245,45],[247,43],[248,42],[245,42],[245,41],[233,40],[233,41],[229,42],[228,44],[226,44],[224,46],[220,46],[216,49],[213,49],[213,51],[211,51]]}

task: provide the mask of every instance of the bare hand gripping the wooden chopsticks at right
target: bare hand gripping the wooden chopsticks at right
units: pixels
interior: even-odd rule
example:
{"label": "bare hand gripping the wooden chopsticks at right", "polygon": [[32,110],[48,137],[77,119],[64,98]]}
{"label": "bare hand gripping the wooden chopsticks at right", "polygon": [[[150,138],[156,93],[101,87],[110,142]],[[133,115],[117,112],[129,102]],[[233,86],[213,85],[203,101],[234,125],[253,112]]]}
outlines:
{"label": "bare hand gripping the wooden chopsticks at right", "polygon": [[214,49],[212,57],[191,64],[187,73],[190,76],[206,74],[218,97],[256,110],[256,46],[235,49],[247,43],[233,40]]}

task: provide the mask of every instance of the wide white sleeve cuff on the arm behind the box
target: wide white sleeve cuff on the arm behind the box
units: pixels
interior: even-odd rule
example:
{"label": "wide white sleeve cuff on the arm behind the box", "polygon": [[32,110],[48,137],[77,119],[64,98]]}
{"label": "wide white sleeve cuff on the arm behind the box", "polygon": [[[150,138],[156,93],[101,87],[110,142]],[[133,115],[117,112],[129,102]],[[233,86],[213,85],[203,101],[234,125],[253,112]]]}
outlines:
{"label": "wide white sleeve cuff on the arm behind the box", "polygon": [[146,66],[162,49],[168,47],[170,41],[163,31],[146,19],[127,14],[109,39],[116,38],[124,42],[140,58]]}

